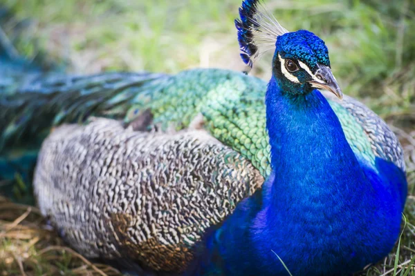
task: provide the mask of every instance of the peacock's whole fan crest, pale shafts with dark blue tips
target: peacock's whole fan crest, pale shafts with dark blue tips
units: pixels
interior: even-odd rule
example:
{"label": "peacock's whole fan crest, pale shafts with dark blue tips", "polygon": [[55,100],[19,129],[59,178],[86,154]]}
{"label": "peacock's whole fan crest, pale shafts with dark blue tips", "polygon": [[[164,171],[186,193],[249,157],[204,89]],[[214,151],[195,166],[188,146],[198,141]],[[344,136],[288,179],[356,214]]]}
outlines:
{"label": "peacock's whole fan crest, pale shafts with dark blue tips", "polygon": [[277,37],[288,32],[266,10],[261,0],[244,0],[235,19],[241,58],[250,68],[264,52],[275,48]]}

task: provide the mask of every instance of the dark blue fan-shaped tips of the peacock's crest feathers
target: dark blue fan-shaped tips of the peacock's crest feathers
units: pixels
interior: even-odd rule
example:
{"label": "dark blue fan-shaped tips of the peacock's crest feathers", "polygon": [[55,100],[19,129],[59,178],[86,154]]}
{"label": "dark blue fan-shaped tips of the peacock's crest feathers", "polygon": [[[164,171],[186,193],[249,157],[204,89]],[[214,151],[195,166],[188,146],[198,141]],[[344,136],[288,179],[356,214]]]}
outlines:
{"label": "dark blue fan-shaped tips of the peacock's crest feathers", "polygon": [[255,20],[252,20],[258,11],[258,4],[259,0],[244,0],[241,8],[239,8],[240,19],[235,19],[241,58],[250,68],[252,68],[252,57],[258,52],[258,47],[255,45],[254,35],[252,34],[252,30],[259,27]]}

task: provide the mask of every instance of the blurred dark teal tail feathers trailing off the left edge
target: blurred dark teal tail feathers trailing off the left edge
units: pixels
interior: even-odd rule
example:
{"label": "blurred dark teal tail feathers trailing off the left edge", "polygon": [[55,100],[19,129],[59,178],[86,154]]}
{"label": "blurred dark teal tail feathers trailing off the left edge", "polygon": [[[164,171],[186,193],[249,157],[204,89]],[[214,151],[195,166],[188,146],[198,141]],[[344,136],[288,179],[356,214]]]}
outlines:
{"label": "blurred dark teal tail feathers trailing off the left edge", "polygon": [[65,75],[45,52],[37,51],[30,59],[19,55],[16,41],[32,39],[23,29],[24,24],[0,5],[0,193],[7,195],[19,186],[10,181],[16,175],[30,183],[37,150],[53,126],[82,123],[91,116],[122,119],[131,99],[165,76]]}

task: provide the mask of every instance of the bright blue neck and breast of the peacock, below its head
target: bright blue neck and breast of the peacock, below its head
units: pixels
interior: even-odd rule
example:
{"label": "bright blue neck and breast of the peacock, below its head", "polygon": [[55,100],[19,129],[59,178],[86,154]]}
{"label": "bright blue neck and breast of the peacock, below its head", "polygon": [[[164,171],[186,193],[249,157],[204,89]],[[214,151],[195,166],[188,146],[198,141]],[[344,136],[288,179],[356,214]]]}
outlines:
{"label": "bright blue neck and breast of the peacock, below its head", "polygon": [[289,95],[273,77],[266,126],[273,174],[207,235],[193,275],[288,275],[275,254],[293,275],[347,275],[386,255],[399,229],[385,228],[380,179],[360,166],[322,94]]}

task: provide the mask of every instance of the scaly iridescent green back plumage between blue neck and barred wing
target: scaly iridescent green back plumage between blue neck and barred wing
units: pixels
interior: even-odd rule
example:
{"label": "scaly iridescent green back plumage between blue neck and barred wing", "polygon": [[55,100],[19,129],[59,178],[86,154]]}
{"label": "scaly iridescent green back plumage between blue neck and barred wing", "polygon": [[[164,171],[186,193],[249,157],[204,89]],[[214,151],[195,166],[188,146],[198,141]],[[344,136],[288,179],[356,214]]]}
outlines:
{"label": "scaly iridescent green back plumage between blue neck and barred wing", "polygon": [[188,70],[170,77],[151,95],[134,98],[125,121],[133,122],[142,110],[151,110],[155,128],[203,128],[252,161],[266,176],[270,173],[270,149],[265,92],[266,82],[241,72]]}

